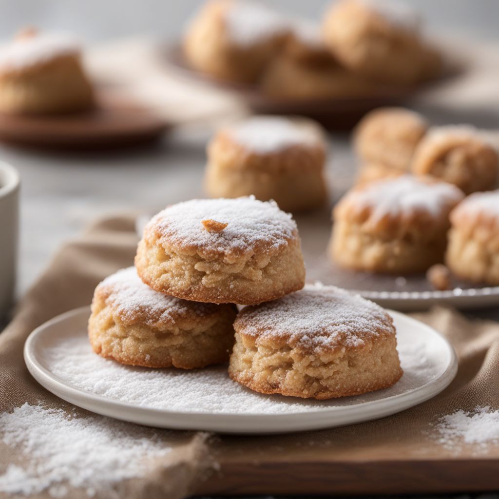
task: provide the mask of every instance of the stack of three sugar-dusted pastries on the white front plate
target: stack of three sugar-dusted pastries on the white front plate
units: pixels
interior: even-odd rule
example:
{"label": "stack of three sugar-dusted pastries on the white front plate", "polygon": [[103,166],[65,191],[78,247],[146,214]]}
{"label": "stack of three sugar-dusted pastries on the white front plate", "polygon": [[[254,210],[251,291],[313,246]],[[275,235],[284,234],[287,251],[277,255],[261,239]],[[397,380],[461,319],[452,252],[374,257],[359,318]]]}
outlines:
{"label": "stack of three sugar-dusted pastries on the white front plate", "polygon": [[[398,381],[391,317],[304,281],[296,224],[274,202],[179,203],[147,224],[135,267],[97,286],[90,342],[103,357],[146,367],[230,358],[230,376],[262,393],[323,399]],[[235,303],[251,306],[238,314]]]}

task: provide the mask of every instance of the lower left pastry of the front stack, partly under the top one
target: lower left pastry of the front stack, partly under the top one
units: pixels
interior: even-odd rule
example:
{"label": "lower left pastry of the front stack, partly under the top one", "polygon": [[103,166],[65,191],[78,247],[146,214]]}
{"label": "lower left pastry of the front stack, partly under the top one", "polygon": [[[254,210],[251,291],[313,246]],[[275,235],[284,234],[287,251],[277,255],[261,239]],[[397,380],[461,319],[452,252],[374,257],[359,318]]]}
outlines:
{"label": "lower left pastry of the front stack, partly under the top one", "polygon": [[129,267],[95,289],[88,336],[95,353],[121,364],[195,369],[229,359],[236,313],[158,293]]}

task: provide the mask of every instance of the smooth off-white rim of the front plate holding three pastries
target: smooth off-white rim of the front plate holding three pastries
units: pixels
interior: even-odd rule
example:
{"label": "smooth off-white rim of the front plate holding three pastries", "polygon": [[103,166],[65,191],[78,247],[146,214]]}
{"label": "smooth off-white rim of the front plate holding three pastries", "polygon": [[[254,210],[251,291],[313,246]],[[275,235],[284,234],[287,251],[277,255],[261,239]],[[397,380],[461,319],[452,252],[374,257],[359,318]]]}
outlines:
{"label": "smooth off-white rim of the front plate holding three pastries", "polygon": [[[278,420],[279,422],[283,422],[287,425],[291,424],[292,428],[291,429],[286,429],[284,428],[283,430],[259,430],[259,431],[254,431],[254,430],[248,430],[248,429],[241,429],[241,428],[236,428],[234,430],[226,430],[224,431],[225,433],[284,433],[284,432],[294,432],[294,431],[307,431],[311,429],[319,429],[319,428],[332,428],[334,426],[344,426],[346,424],[355,424],[355,423],[360,423],[363,421],[371,421],[374,419],[379,419],[383,418],[386,416],[389,416],[391,414],[395,414],[398,412],[401,412],[403,410],[406,410],[410,407],[414,407],[416,405],[419,405],[439,393],[441,393],[449,384],[453,381],[453,379],[456,376],[457,370],[458,370],[458,361],[457,361],[457,356],[456,352],[454,350],[454,347],[452,344],[449,342],[445,336],[440,334],[436,329],[432,328],[431,326],[428,326],[427,324],[414,319],[412,317],[409,317],[401,312],[397,312],[394,310],[388,310],[390,314],[395,314],[398,316],[401,316],[403,319],[408,320],[409,322],[416,322],[419,327],[423,327],[424,329],[428,329],[432,334],[436,334],[440,337],[440,339],[443,341],[443,344],[446,346],[448,353],[449,353],[449,364],[446,367],[446,369],[443,371],[443,373],[440,375],[439,378],[437,378],[434,381],[430,381],[423,386],[420,386],[413,391],[410,391],[409,393],[411,394],[410,399],[407,398],[408,392],[403,392],[397,395],[392,395],[383,399],[375,400],[375,401],[366,401],[366,402],[360,402],[358,404],[355,404],[354,406],[345,406],[348,409],[352,409],[355,407],[356,410],[359,410],[360,413],[362,413],[361,417],[353,417],[351,422],[349,423],[339,423],[335,424],[334,422],[330,422],[329,424],[319,424],[317,425],[316,420],[310,422],[309,425],[298,425],[296,428],[295,426],[292,425],[293,421],[296,420],[297,418],[303,418],[303,416],[307,415],[313,415],[316,417],[324,417],[327,415],[330,415],[331,411],[337,410],[337,408],[330,408],[330,407],[325,407],[325,408],[320,408],[318,410],[314,410],[312,412],[308,411],[300,411],[300,412],[286,412],[283,414],[278,414],[278,413],[254,413],[254,414],[240,414],[240,413],[213,413],[213,412],[189,412],[189,411],[170,411],[167,409],[159,409],[159,408],[154,408],[154,407],[149,407],[149,406],[138,406],[136,404],[131,404],[128,402],[122,402],[120,400],[115,400],[112,398],[105,397],[103,395],[98,395],[98,394],[93,394],[91,392],[88,392],[86,390],[83,390],[81,388],[74,387],[70,383],[68,383],[65,380],[62,380],[58,378],[57,376],[53,375],[48,369],[46,369],[41,363],[38,361],[36,358],[35,354],[35,349],[34,346],[36,344],[36,340],[38,339],[40,334],[43,334],[43,331],[45,331],[47,328],[50,328],[53,324],[56,324],[58,322],[63,322],[65,320],[69,320],[73,317],[78,317],[82,313],[85,314],[90,314],[90,306],[89,305],[84,305],[82,307],[78,307],[72,310],[68,310],[62,314],[59,314],[52,319],[44,322],[43,324],[39,325],[36,327],[27,337],[25,343],[24,343],[24,348],[23,348],[23,358],[24,362],[26,364],[26,367],[29,371],[29,373],[33,376],[33,378],[40,383],[44,388],[46,388],[49,392],[52,394],[56,395],[57,397],[61,398],[62,400],[65,400],[73,405],[76,405],[78,407],[83,407],[84,409],[87,409],[89,411],[92,411],[96,414],[101,414],[105,416],[110,416],[115,419],[122,419],[125,421],[130,421],[138,424],[147,424],[147,423],[140,423],[136,419],[133,418],[119,418],[118,416],[111,415],[107,411],[102,411],[102,412],[97,412],[94,409],[90,409],[89,407],[92,406],[94,407],[95,405],[98,405],[99,407],[103,407],[104,409],[110,409],[110,410],[121,410],[121,411],[126,411],[129,415],[130,412],[140,412],[142,414],[145,413],[152,413],[155,416],[160,416],[160,415],[168,415],[169,417],[172,418],[183,418],[188,416],[190,419],[194,420],[194,425],[193,424],[187,424],[185,426],[164,426],[163,428],[175,428],[175,429],[196,429],[196,424],[201,422],[204,418],[206,417],[219,417],[219,418],[228,418],[231,420],[239,420],[240,422],[245,422],[245,421],[251,421],[251,422],[256,422],[256,423],[263,423],[266,421],[275,421]],[[428,385],[433,385],[433,390],[431,392],[428,392]],[[61,392],[63,395],[61,395]],[[79,402],[75,402],[75,400],[84,398],[85,399],[85,404],[81,405]],[[399,401],[400,399],[403,399],[403,403],[401,404]],[[86,403],[88,402],[88,403]],[[379,406],[387,405],[389,407],[386,407],[385,410],[381,411]],[[370,408],[370,411],[366,411],[366,408]],[[360,411],[362,409],[362,411]],[[378,411],[376,411],[378,409]],[[374,412],[374,415],[373,415]],[[149,418],[150,420],[151,418]],[[284,421],[283,421],[284,420]],[[154,426],[154,424],[151,424],[150,426]],[[157,425],[156,425],[157,426]],[[212,425],[213,426],[213,425]],[[281,425],[280,425],[281,426]],[[200,429],[200,428],[197,428]],[[202,428],[201,428],[202,429]],[[219,433],[224,433],[221,430],[212,430],[212,431],[217,431]]]}

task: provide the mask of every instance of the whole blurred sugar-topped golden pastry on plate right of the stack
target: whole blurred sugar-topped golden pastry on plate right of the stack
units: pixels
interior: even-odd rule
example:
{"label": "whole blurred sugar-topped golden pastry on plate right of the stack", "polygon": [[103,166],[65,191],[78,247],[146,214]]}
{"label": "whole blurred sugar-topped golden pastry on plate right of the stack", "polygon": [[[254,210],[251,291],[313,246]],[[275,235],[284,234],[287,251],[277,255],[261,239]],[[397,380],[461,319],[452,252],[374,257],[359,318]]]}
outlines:
{"label": "whole blurred sugar-topped golden pastry on plate right of the stack", "polygon": [[423,272],[443,261],[449,212],[462,199],[457,187],[426,177],[360,185],[333,211],[331,258],[355,270]]}

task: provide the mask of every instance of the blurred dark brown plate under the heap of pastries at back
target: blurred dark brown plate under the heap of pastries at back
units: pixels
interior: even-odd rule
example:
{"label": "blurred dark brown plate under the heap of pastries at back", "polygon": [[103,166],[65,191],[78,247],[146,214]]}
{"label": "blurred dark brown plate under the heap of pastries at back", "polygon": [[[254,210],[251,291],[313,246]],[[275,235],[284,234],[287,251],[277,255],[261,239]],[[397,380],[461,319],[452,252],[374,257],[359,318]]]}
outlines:
{"label": "blurred dark brown plate under the heap of pastries at back", "polygon": [[380,106],[402,105],[425,89],[462,74],[464,61],[446,57],[445,69],[438,77],[417,86],[376,85],[370,95],[329,99],[278,99],[261,92],[257,85],[230,83],[194,69],[185,59],[179,43],[163,48],[166,63],[184,77],[205,82],[237,94],[258,114],[302,115],[315,119],[330,130],[349,130],[368,111]]}

